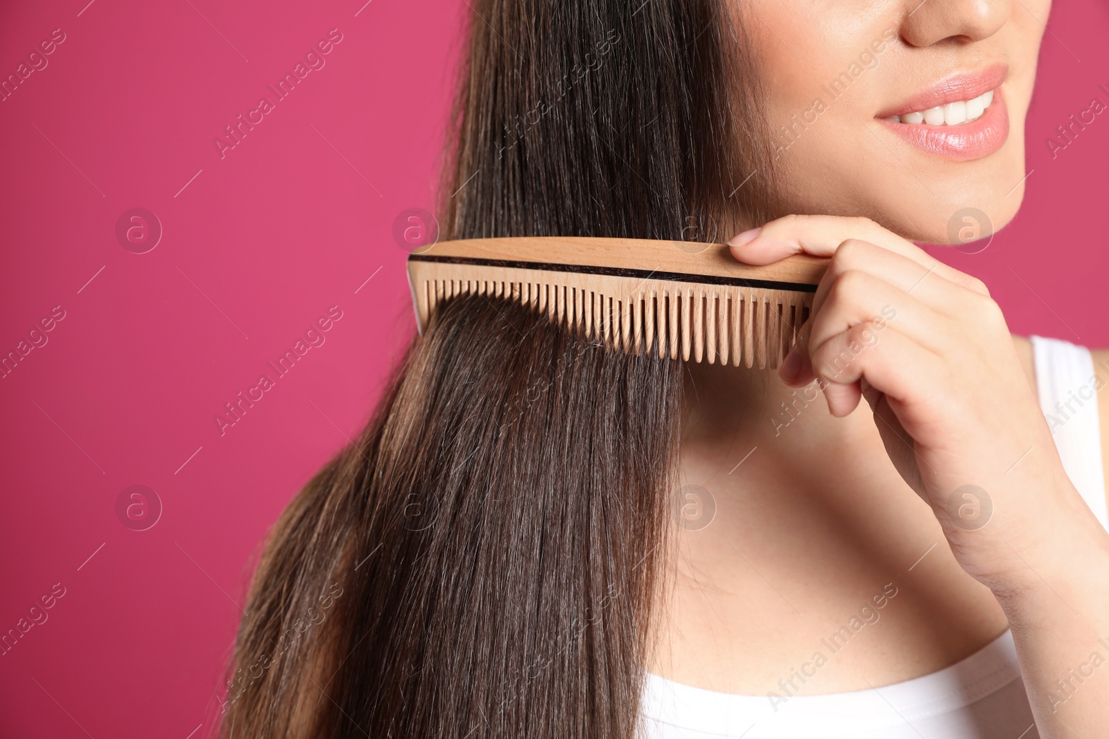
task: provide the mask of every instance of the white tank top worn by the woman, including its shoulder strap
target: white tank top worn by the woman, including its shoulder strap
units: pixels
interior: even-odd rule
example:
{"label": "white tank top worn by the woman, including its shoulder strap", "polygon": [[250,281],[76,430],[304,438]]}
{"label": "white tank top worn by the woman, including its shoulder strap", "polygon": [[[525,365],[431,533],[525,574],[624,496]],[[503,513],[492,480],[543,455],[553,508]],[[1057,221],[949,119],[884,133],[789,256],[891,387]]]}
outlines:
{"label": "white tank top worn by the woman, including its shoulder strap", "polygon": [[[1038,336],[1031,342],[1040,409],[1064,468],[1109,528],[1096,394],[1102,380],[1085,347]],[[938,673],[874,690],[796,696],[776,710],[766,696],[648,675],[642,716],[651,739],[1039,738],[1009,630]]]}

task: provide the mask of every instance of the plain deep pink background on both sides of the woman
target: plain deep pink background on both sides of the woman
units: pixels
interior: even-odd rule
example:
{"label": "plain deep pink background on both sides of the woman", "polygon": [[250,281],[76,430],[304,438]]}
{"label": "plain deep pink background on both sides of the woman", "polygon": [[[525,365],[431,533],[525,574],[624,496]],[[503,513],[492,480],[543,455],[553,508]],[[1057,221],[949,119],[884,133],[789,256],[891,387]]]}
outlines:
{"label": "plain deep pink background on both sides of the woman", "polygon": [[[0,353],[65,311],[0,379],[0,632],[65,588],[0,657],[0,736],[206,737],[252,553],[411,330],[391,227],[431,207],[466,6],[87,2],[0,11],[4,78],[65,33],[0,102]],[[943,254],[1014,330],[1107,346],[1109,113],[1055,160],[1045,138],[1109,103],[1109,10],[1071,0],[1049,28],[1024,209],[985,252]],[[330,29],[325,66],[221,158],[213,138]],[[132,207],[164,229],[145,254],[116,242]],[[221,435],[224,403],[332,306],[325,342]],[[146,531],[116,517],[135,484],[163,506]]]}

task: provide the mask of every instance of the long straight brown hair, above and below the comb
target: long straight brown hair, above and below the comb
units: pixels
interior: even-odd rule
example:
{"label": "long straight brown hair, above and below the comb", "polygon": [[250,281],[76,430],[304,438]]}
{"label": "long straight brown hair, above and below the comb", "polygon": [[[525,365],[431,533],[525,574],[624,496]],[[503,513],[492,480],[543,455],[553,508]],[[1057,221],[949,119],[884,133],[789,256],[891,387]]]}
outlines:
{"label": "long straight brown hair, above and below the comb", "polygon": [[[719,240],[769,217],[732,3],[469,4],[444,238]],[[271,532],[221,735],[633,736],[682,384],[505,300],[440,305]]]}

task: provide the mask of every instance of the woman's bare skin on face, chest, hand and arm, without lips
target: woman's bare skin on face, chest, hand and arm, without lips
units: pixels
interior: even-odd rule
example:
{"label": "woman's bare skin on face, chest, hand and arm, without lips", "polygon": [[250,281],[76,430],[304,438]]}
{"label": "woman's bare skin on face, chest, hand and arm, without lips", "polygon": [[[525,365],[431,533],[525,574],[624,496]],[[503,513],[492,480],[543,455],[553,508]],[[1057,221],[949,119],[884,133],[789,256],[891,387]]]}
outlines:
{"label": "woman's bare skin on face, chest, hand and arm, without lips", "polygon": [[[1011,628],[1039,736],[1109,736],[1109,665],[1069,698],[1056,686],[1106,654],[1109,534],[1062,469],[1028,340],[1011,336],[985,285],[908,240],[946,243],[950,215],[968,205],[995,228],[1016,213],[1048,3],[746,9],[772,120],[807,106],[862,41],[889,27],[898,41],[783,153],[787,201],[820,215],[733,239],[749,264],[797,253],[832,263],[781,374],[689,366],[682,483],[709,491],[715,517],[681,531],[650,668],[711,690],[781,694],[822,639],[869,606],[877,619],[806,668],[814,676],[794,680],[792,695],[919,677]],[[874,119],[939,76],[997,60],[1010,68],[1011,125],[987,157],[944,160]],[[750,226],[759,224],[740,225]],[[1096,351],[1101,360],[1109,352]],[[1098,403],[1109,462],[1107,396]],[[948,513],[964,485],[993,504],[980,528]]]}

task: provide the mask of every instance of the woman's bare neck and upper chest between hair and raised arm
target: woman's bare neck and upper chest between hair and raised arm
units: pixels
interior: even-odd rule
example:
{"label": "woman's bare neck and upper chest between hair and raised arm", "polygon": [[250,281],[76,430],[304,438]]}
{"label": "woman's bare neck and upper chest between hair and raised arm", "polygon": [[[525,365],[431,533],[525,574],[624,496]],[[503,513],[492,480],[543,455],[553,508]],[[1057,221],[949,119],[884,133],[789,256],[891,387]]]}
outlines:
{"label": "woman's bare neck and upper chest between hair and raised arm", "polygon": [[680,528],[652,671],[765,695],[886,589],[899,595],[867,649],[837,656],[806,692],[917,677],[1005,629],[894,469],[865,401],[835,418],[815,386],[794,391],[773,370],[686,368]]}

